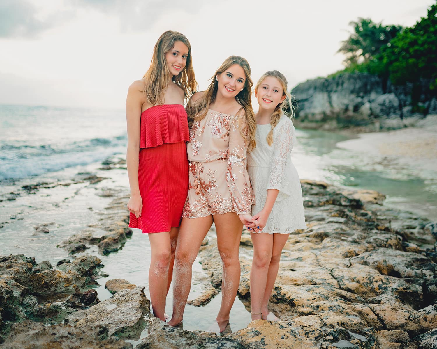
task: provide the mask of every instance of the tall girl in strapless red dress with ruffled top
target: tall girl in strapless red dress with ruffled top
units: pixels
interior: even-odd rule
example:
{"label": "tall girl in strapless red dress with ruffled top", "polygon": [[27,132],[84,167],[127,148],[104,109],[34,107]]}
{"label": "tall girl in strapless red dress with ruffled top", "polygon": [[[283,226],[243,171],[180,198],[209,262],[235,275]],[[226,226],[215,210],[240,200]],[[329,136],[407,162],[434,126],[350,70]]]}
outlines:
{"label": "tall girl in strapless red dress with ruffled top", "polygon": [[196,91],[191,45],[176,31],[156,42],[149,70],[126,99],[129,227],[149,233],[149,291],[153,315],[165,321],[182,210],[188,192],[184,99]]}

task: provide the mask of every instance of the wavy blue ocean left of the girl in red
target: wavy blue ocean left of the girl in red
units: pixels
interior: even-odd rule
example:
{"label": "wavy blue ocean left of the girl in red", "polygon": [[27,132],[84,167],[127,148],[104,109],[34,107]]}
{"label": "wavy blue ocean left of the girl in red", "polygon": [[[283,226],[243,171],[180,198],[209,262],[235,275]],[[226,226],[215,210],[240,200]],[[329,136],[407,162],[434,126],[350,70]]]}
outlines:
{"label": "wavy blue ocean left of the girl in red", "polygon": [[124,153],[123,110],[0,105],[0,185]]}

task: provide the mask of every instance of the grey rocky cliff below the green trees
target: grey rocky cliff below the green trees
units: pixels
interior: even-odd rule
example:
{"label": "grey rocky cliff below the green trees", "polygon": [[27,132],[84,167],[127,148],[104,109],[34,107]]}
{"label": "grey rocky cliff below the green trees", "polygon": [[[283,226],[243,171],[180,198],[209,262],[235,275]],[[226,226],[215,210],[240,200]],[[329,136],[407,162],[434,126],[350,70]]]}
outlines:
{"label": "grey rocky cliff below the green trees", "polygon": [[296,86],[295,125],[302,128],[359,131],[393,130],[413,126],[437,114],[436,93],[429,81],[394,86],[378,76],[345,73],[307,80]]}

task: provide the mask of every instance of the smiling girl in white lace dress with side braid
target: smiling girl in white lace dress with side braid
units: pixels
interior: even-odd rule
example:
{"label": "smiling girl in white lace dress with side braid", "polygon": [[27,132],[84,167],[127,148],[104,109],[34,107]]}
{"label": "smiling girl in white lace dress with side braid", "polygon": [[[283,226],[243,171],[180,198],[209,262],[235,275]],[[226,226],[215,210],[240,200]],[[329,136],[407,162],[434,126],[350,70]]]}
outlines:
{"label": "smiling girl in white lace dress with side braid", "polygon": [[[306,228],[299,175],[291,163],[295,128],[283,112],[293,111],[284,75],[277,70],[266,72],[255,87],[255,96],[260,106],[257,147],[247,154],[247,164],[256,202],[252,218],[259,225],[246,225],[253,242],[252,320],[267,319],[282,249],[291,232]],[[271,314],[270,319],[277,318]]]}

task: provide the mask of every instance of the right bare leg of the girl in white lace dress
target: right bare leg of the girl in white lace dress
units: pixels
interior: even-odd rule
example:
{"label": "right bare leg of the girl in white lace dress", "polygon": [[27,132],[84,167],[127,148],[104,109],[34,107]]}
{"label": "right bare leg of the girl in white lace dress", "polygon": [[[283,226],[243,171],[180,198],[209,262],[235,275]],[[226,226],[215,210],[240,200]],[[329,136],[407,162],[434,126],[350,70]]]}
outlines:
{"label": "right bare leg of the girl in white lace dress", "polygon": [[263,302],[261,304],[261,312],[263,313],[263,318],[266,319],[269,314],[268,303],[272,290],[274,287],[274,282],[276,281],[277,271],[279,269],[279,260],[281,260],[281,252],[287,242],[288,236],[290,234],[273,234],[273,248],[272,257],[270,261],[269,271],[267,273],[267,284],[266,290],[264,291]]}

